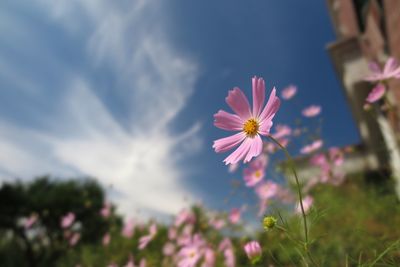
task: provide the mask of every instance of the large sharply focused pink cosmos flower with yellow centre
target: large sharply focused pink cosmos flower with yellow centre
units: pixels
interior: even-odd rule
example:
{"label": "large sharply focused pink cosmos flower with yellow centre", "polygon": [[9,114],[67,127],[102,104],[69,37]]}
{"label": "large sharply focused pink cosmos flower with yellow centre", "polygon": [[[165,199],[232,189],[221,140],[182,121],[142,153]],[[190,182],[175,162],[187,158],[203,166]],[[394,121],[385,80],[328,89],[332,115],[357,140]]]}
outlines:
{"label": "large sharply focused pink cosmos flower with yellow centre", "polygon": [[265,82],[262,78],[254,77],[253,110],[249,101],[239,88],[234,88],[228,94],[226,102],[236,114],[220,110],[215,115],[214,125],[228,131],[239,131],[232,136],[214,141],[215,152],[226,152],[236,146],[239,147],[225,160],[225,164],[235,164],[244,159],[249,162],[262,152],[263,143],[260,135],[267,136],[272,127],[272,119],[280,106],[274,88],[265,107]]}

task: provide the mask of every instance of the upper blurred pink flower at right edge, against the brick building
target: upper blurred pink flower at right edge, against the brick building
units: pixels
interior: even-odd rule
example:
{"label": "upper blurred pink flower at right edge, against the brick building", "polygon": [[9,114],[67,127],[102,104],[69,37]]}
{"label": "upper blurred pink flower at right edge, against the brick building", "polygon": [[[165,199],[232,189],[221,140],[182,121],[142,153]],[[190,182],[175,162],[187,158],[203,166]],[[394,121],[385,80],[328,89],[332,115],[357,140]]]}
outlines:
{"label": "upper blurred pink flower at right edge, against the brick building", "polygon": [[400,79],[400,66],[396,59],[390,57],[387,61],[383,70],[379,67],[376,62],[369,64],[371,74],[365,77],[364,80],[369,82],[385,81],[391,78]]}

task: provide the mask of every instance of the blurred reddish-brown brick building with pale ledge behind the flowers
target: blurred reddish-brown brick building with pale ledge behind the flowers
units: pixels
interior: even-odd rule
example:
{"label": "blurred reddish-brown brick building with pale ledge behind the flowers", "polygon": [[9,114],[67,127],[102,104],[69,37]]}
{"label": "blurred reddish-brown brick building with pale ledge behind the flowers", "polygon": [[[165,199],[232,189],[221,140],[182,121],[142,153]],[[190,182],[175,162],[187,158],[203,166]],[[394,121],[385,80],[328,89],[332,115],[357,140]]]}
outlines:
{"label": "blurred reddish-brown brick building with pale ledge behind the flowers", "polygon": [[362,138],[360,167],[391,171],[400,196],[400,82],[389,84],[394,109],[377,119],[364,110],[373,85],[363,80],[370,61],[383,63],[389,56],[400,61],[400,0],[327,0],[327,5],[337,36],[327,50]]}

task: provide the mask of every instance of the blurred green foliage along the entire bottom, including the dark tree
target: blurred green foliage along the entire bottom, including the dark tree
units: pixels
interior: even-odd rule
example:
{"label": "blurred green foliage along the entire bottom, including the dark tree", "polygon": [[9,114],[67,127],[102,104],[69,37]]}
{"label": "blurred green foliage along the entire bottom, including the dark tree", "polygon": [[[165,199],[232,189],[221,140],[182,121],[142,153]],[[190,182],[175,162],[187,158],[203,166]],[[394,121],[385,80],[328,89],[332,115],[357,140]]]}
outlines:
{"label": "blurred green foliage along the entire bottom, including the dark tree", "polygon": [[[400,205],[391,192],[390,181],[376,184],[365,182],[363,177],[353,177],[340,187],[319,185],[313,189],[312,195],[315,205],[308,214],[308,222],[312,240],[310,254],[315,265],[400,266]],[[40,179],[28,185],[8,184],[0,190],[0,200],[1,231],[7,232],[5,236],[16,231],[17,218],[29,216],[32,211],[43,217],[41,222],[51,231],[48,234],[55,239],[51,241],[52,245],[39,247],[41,253],[33,250],[36,266],[80,264],[95,267],[111,263],[124,266],[131,255],[135,263],[145,258],[150,267],[174,266],[170,258],[163,256],[169,226],[158,224],[154,240],[144,250],[139,250],[139,239],[148,233],[149,224],[137,226],[132,238],[123,237],[120,218],[112,215],[105,220],[99,216],[103,193],[92,181]],[[14,208],[6,207],[6,201],[13,203]],[[82,222],[83,238],[75,247],[66,244],[59,228],[60,217],[69,211],[75,212]],[[240,226],[217,231],[209,223],[207,210],[196,206],[192,211],[196,217],[193,232],[201,233],[215,251],[224,236],[231,237],[236,266],[250,266],[243,250],[244,244],[250,240],[258,240],[263,249],[260,261],[253,266],[305,266],[299,215],[271,210],[269,215],[278,219],[276,226],[266,232],[260,220],[257,231],[249,233]],[[108,231],[112,236],[111,242],[103,246],[101,238]],[[0,239],[1,266],[35,266],[27,261],[27,247],[21,245],[23,238],[16,233],[11,236],[13,238]],[[34,243],[31,245],[35,247]],[[224,266],[224,256],[220,252],[216,266]]]}

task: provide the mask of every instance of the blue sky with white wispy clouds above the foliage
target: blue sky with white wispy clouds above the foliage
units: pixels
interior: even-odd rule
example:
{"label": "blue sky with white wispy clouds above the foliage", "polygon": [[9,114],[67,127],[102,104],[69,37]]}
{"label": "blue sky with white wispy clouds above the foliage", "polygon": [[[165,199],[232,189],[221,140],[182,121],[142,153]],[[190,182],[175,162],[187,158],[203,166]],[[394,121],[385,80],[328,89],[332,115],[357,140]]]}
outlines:
{"label": "blue sky with white wispy clouds above the foliage", "polygon": [[212,115],[254,75],[299,87],[277,123],[320,104],[327,145],[359,140],[324,1],[6,0],[0,35],[3,181],[94,176],[129,216],[226,208]]}

